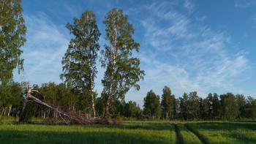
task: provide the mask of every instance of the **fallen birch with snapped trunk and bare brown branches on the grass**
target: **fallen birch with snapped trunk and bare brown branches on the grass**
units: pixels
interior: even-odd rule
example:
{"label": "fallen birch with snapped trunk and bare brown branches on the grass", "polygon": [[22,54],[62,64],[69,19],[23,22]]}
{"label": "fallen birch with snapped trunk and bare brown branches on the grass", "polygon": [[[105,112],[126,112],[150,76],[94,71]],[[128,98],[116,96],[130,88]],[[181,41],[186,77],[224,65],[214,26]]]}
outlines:
{"label": "fallen birch with snapped trunk and bare brown branches on the grass", "polygon": [[[34,96],[32,95],[34,94]],[[56,113],[56,121],[61,120],[64,124],[108,124],[108,120],[96,117],[82,115],[75,110],[69,110],[67,107],[57,107],[43,102],[44,96],[39,91],[29,88],[26,95],[26,102],[20,115],[20,121],[27,122],[32,118],[34,106],[46,107]]]}

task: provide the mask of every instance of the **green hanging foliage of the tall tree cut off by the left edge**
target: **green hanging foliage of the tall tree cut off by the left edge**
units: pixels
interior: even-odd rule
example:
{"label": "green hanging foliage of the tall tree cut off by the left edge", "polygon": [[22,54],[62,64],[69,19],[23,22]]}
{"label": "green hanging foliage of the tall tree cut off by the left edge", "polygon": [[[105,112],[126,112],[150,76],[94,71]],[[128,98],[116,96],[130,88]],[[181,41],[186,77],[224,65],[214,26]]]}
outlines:
{"label": "green hanging foliage of the tall tree cut off by the left edge", "polygon": [[21,0],[0,1],[0,83],[12,79],[16,67],[23,70],[23,53],[20,48],[26,42],[26,26]]}

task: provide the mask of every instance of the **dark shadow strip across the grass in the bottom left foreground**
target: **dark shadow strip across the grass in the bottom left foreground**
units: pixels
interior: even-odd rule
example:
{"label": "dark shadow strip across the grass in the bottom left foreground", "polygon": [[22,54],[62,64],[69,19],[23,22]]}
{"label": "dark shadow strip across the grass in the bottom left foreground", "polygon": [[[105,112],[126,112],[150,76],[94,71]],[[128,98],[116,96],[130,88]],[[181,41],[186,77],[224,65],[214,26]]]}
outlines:
{"label": "dark shadow strip across the grass in the bottom left foreground", "polygon": [[167,143],[135,134],[116,132],[31,132],[1,130],[1,143]]}

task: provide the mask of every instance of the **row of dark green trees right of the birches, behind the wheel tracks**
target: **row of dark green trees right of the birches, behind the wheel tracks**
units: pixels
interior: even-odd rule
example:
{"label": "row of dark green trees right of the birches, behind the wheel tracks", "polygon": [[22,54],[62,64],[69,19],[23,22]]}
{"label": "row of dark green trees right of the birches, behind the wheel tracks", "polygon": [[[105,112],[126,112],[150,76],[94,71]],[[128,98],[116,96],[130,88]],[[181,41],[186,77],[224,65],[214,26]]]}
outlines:
{"label": "row of dark green trees right of the birches, behind the wheel tracks", "polygon": [[236,120],[256,118],[256,99],[243,94],[208,94],[199,97],[197,91],[176,98],[165,86],[162,97],[148,91],[144,98],[143,115],[147,118],[170,120]]}

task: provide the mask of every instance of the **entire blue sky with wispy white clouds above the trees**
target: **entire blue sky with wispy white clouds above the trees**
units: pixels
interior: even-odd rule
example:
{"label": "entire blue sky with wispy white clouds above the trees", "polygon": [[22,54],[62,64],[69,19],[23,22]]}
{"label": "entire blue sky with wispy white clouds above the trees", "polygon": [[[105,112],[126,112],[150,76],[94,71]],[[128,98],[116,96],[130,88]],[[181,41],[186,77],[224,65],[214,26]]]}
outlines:
{"label": "entire blue sky with wispy white clouds above the trees", "polygon": [[[18,75],[15,70],[15,81],[28,80],[31,86],[61,83],[61,59],[73,37],[65,28],[67,23],[92,10],[104,49],[108,42],[102,21],[118,7],[135,29],[132,37],[140,44],[140,52],[133,54],[146,73],[138,83],[140,91],[131,88],[127,93],[127,102],[142,107],[148,91],[162,96],[165,86],[176,98],[191,91],[203,98],[227,92],[256,98],[254,0],[23,0],[21,5],[27,42],[21,48],[24,71]],[[95,89],[100,96],[105,69],[99,61],[97,69]]]}

